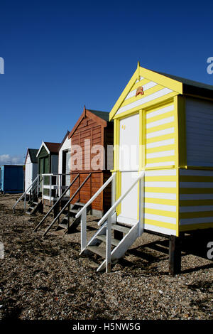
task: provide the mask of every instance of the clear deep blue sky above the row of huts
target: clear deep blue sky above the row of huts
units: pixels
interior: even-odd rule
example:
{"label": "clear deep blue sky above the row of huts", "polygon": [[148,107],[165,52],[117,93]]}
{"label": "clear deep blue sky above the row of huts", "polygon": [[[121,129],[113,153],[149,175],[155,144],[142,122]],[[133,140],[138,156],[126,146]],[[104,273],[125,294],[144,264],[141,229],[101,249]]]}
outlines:
{"label": "clear deep blue sky above the row of huts", "polygon": [[0,163],[110,111],[137,61],[213,85],[212,1],[1,1]]}

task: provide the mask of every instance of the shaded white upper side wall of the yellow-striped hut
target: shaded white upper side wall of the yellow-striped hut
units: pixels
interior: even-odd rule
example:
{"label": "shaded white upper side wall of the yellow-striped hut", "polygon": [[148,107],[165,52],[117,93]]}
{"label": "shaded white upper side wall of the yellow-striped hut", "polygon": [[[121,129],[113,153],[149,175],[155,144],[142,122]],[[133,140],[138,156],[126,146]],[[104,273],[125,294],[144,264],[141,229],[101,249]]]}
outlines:
{"label": "shaded white upper side wall of the yellow-striped hut", "polygon": [[187,165],[213,166],[213,103],[186,98]]}

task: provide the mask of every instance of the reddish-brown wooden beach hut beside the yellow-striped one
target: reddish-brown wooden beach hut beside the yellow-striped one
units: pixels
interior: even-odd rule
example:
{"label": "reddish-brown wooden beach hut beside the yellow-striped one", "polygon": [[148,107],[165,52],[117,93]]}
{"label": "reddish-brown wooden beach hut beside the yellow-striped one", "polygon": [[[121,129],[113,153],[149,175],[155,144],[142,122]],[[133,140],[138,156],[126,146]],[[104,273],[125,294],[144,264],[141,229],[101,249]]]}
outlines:
{"label": "reddish-brown wooden beach hut beside the yellow-striped one", "polygon": [[[75,203],[77,199],[80,203],[87,203],[111,176],[110,169],[113,164],[112,158],[110,159],[110,149],[113,146],[113,136],[113,122],[109,122],[109,112],[95,111],[84,107],[80,118],[69,134],[72,148],[71,181],[75,179],[77,174],[80,174],[78,181],[70,189],[70,196],[75,193],[85,178],[91,176],[72,200],[72,203]],[[102,217],[110,206],[111,188],[108,187],[92,203],[92,215]]]}

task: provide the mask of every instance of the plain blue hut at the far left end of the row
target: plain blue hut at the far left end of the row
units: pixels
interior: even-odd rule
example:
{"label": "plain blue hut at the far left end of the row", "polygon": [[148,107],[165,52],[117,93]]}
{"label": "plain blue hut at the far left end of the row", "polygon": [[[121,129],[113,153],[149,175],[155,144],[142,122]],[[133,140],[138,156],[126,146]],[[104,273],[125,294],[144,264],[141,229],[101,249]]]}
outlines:
{"label": "plain blue hut at the far left end of the row", "polygon": [[0,166],[0,192],[23,193],[24,168],[19,165]]}

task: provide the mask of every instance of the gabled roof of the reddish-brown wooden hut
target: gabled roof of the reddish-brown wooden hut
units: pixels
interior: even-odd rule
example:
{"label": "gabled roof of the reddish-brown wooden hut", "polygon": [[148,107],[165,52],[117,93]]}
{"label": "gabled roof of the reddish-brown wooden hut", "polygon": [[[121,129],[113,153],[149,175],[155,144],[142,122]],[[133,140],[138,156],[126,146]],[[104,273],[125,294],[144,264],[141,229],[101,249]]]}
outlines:
{"label": "gabled roof of the reddish-brown wooden hut", "polygon": [[100,111],[97,111],[97,110],[86,109],[86,107],[84,106],[84,110],[83,110],[80,118],[77,120],[75,126],[70,131],[70,134],[69,134],[69,137],[68,137],[69,139],[72,137],[72,135],[77,130],[77,127],[82,122],[82,119],[84,119],[86,116],[93,119],[94,122],[97,122],[97,124],[102,124],[102,126],[107,126],[107,122],[109,122],[109,112],[100,112]]}

